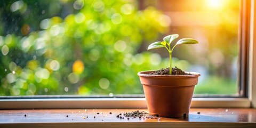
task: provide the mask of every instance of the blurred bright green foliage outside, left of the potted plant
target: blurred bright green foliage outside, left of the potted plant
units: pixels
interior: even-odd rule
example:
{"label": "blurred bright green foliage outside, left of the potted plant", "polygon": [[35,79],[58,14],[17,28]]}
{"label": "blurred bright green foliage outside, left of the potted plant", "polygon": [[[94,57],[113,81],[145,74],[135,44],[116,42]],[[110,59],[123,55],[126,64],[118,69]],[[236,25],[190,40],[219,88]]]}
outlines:
{"label": "blurred bright green foliage outside, left of the potted plant", "polygon": [[41,30],[21,27],[27,36],[0,36],[0,95],[141,94],[138,71],[165,67],[158,54],[137,54],[167,29],[161,12],[140,11],[135,1],[75,1],[74,8],[43,19]]}

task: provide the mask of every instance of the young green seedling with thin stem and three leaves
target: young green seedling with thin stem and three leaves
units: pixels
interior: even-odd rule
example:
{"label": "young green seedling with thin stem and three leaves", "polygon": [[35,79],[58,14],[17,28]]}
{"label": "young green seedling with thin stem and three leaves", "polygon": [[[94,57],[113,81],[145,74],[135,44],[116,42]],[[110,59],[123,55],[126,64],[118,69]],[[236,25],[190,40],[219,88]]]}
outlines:
{"label": "young green seedling with thin stem and three leaves", "polygon": [[148,46],[148,50],[157,49],[159,47],[165,47],[167,49],[167,51],[169,52],[169,55],[170,55],[170,63],[169,63],[170,75],[172,75],[172,51],[173,51],[174,47],[179,44],[197,44],[198,43],[198,41],[196,41],[196,39],[193,39],[193,38],[182,38],[171,49],[172,41],[174,41],[174,39],[176,39],[178,37],[179,37],[178,34],[172,34],[169,36],[165,36],[164,41],[154,42]]}

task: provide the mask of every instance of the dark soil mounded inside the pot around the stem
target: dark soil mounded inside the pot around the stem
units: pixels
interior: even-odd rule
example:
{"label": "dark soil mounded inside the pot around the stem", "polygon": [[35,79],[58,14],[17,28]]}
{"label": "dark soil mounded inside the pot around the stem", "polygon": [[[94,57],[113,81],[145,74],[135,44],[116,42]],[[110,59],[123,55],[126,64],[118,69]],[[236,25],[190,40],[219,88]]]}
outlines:
{"label": "dark soil mounded inside the pot around the stem", "polygon": [[[170,68],[165,68],[165,69],[160,69],[160,70],[157,70],[157,71],[153,71],[151,73],[149,73],[149,75],[162,75],[162,76],[169,76],[169,71],[170,71]],[[182,71],[181,69],[175,67],[175,68],[172,68],[172,75],[191,75],[191,74],[187,74],[185,73],[184,71]]]}

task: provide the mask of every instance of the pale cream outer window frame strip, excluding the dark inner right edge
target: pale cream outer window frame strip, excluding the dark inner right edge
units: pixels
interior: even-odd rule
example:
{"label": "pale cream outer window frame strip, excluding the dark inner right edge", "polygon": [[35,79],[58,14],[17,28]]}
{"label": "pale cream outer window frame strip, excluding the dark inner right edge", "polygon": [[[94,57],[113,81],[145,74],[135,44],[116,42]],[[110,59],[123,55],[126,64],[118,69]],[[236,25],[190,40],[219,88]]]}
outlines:
{"label": "pale cream outer window frame strip, excluding the dark inner right edge", "polygon": [[[256,108],[256,3],[251,0],[248,98],[193,98],[191,108]],[[255,45],[254,45],[255,44]],[[1,98],[1,97],[0,97]],[[0,109],[147,108],[145,98],[33,98],[0,100]]]}

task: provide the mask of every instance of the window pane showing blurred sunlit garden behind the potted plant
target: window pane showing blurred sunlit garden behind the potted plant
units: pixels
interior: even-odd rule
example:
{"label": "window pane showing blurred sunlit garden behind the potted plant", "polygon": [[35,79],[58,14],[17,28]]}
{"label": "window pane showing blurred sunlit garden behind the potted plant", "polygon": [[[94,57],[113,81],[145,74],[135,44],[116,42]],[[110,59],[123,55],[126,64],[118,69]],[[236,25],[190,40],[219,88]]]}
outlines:
{"label": "window pane showing blurred sunlit garden behind the potted plant", "polygon": [[196,45],[173,66],[201,74],[195,94],[236,94],[238,0],[2,1],[0,95],[143,94],[137,73],[167,68],[169,34]]}

